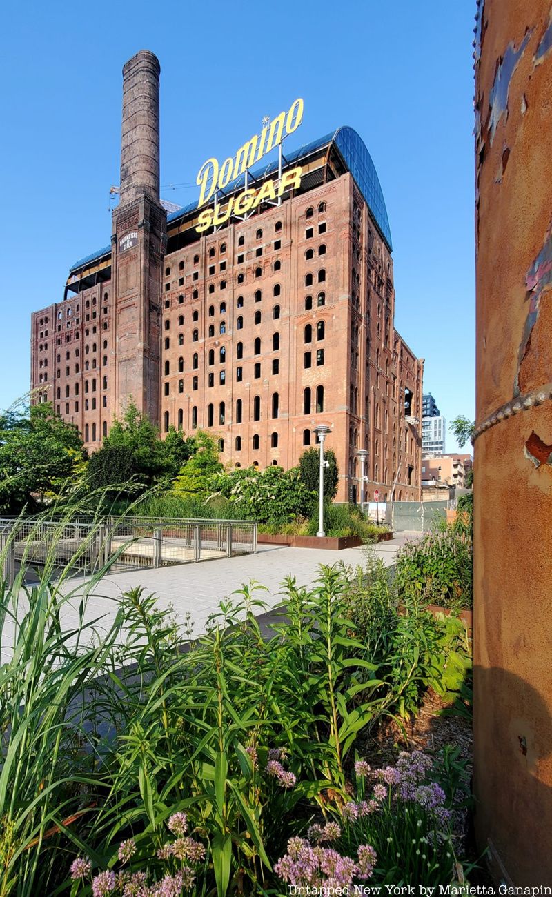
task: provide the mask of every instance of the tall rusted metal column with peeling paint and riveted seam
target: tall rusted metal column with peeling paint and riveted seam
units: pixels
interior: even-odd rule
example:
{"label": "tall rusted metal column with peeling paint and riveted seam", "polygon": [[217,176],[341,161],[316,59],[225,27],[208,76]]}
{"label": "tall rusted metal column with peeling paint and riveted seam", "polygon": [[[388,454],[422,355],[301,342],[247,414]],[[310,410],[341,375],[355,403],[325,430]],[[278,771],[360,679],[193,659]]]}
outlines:
{"label": "tall rusted metal column with peeling paint and riveted seam", "polygon": [[550,0],[476,33],[476,832],[496,880],[552,882]]}

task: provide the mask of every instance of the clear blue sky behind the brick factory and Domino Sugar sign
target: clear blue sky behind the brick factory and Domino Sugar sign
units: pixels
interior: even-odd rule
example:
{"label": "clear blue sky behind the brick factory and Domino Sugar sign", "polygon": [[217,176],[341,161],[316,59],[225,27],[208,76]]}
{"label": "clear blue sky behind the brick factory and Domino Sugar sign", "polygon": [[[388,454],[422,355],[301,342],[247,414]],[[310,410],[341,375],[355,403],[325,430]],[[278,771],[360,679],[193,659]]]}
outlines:
{"label": "clear blue sky behind the brick factory and Domino Sugar sign", "polygon": [[[0,407],[29,388],[31,311],[62,300],[69,266],[110,242],[121,68],[147,48],[162,66],[162,185],[194,182],[206,158],[232,155],[298,96],[290,148],[358,131],[390,219],[396,326],[447,420],[472,416],[474,13],[469,0],[438,13],[434,0],[9,4]],[[180,205],[197,193],[162,190]]]}

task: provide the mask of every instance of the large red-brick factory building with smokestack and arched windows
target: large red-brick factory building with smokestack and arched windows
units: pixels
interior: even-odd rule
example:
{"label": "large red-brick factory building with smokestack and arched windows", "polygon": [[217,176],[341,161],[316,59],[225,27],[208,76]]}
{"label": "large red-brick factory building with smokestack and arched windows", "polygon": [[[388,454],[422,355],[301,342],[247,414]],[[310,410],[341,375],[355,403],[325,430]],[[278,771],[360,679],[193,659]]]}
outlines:
{"label": "large red-brick factory building with smokestack and arched windows", "polygon": [[[71,267],[64,299],[33,313],[33,401],[53,402],[100,448],[129,399],[157,423],[220,440],[232,465],[297,464],[328,424],[338,501],[419,500],[423,361],[394,328],[390,227],[380,182],[349,127],[288,152],[278,200],[216,229],[197,204],[160,200],[159,73],[142,51],[123,69],[120,197],[110,246]],[[247,145],[247,144],[246,144]],[[276,183],[282,183],[276,181]],[[234,211],[234,210],[232,210]],[[395,482],[396,481],[396,482]]]}

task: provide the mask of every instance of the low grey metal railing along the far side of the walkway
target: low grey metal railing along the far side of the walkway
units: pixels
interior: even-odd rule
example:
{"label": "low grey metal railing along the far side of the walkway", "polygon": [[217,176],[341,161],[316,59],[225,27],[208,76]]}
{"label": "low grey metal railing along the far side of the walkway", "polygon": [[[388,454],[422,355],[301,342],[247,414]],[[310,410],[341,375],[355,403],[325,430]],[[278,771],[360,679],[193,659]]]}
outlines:
{"label": "low grey metal railing along the far side of the walkway", "polygon": [[101,523],[0,518],[4,580],[16,566],[47,563],[90,573],[195,563],[257,552],[257,523],[251,520],[106,517]]}

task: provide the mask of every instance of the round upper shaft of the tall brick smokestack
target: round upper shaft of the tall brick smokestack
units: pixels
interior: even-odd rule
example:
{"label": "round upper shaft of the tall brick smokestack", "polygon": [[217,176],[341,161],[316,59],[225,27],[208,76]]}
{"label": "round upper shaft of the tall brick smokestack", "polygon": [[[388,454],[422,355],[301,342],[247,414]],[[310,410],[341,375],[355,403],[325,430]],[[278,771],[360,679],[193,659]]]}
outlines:
{"label": "round upper shaft of the tall brick smokestack", "polygon": [[146,193],[159,203],[159,59],[140,50],[123,66],[120,204]]}

